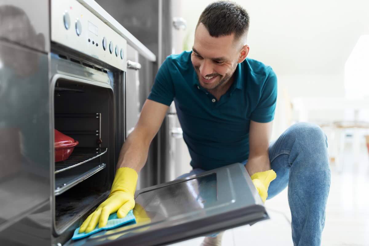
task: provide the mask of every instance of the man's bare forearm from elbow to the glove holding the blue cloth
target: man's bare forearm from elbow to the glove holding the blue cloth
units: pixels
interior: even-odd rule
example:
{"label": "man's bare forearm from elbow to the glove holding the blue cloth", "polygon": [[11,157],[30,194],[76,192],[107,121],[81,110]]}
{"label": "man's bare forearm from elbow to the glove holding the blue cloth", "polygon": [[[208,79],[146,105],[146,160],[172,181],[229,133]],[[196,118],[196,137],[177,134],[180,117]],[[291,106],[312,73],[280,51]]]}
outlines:
{"label": "man's bare forearm from elbow to the glove holding the blue cloth", "polygon": [[120,150],[117,169],[130,167],[138,173],[146,163],[150,143],[151,139],[145,139],[141,132],[134,130]]}

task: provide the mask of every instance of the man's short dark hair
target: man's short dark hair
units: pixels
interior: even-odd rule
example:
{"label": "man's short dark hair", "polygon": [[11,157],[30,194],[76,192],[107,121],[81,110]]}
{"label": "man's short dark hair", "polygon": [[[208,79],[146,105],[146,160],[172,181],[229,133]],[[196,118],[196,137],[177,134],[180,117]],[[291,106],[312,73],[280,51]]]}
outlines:
{"label": "man's short dark hair", "polygon": [[201,13],[197,26],[204,24],[210,36],[227,36],[234,33],[235,40],[249,31],[249,15],[244,8],[231,1],[216,1]]}

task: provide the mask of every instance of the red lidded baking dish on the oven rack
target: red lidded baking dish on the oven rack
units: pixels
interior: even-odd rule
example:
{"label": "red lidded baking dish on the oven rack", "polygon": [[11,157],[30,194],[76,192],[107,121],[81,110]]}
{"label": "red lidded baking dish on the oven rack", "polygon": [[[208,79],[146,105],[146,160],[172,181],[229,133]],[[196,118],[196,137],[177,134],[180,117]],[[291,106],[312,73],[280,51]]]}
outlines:
{"label": "red lidded baking dish on the oven rack", "polygon": [[62,134],[58,130],[54,129],[55,134],[55,162],[61,162],[69,158],[72,154],[74,147],[78,145],[78,141],[73,138]]}

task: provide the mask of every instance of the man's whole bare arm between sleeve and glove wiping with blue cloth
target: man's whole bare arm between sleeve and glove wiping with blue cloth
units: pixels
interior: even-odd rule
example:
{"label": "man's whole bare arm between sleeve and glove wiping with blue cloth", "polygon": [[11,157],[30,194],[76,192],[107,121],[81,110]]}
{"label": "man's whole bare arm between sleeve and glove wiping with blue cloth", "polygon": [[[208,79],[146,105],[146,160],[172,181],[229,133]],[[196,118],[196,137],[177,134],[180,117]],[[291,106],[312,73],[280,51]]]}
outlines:
{"label": "man's whole bare arm between sleeve and glove wiping with blue cloth", "polygon": [[128,135],[120,150],[117,169],[130,167],[137,173],[142,169],[150,143],[159,131],[168,108],[165,104],[146,100],[135,129]]}

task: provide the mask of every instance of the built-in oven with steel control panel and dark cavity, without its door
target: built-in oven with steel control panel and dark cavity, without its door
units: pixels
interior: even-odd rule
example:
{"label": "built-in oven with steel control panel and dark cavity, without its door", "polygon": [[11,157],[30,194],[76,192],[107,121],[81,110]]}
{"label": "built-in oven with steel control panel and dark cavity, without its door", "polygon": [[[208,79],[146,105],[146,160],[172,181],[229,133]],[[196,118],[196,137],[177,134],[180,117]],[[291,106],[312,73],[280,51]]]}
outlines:
{"label": "built-in oven with steel control panel and dark cavity, without its door", "polygon": [[51,148],[52,233],[64,243],[110,192],[126,134],[127,41],[75,0],[51,1],[51,41],[51,129],[78,141],[59,162]]}

